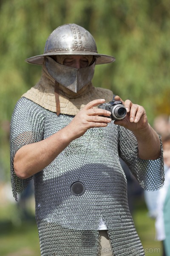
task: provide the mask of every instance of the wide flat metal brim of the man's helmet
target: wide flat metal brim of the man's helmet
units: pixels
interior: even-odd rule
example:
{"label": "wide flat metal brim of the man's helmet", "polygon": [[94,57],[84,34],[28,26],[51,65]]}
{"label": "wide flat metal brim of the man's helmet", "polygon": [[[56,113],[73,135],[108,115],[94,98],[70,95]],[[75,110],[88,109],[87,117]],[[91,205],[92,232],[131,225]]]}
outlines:
{"label": "wide flat metal brim of the man's helmet", "polygon": [[116,60],[113,56],[98,54],[96,52],[85,51],[85,52],[76,52],[75,53],[75,52],[65,51],[62,53],[61,52],[59,52],[59,53],[50,52],[50,53],[45,53],[42,55],[37,55],[37,56],[31,57],[31,58],[27,58],[25,61],[30,64],[42,65],[45,56],[55,56],[55,55],[94,55],[94,56],[96,56],[96,64],[106,64],[106,63],[110,63],[110,62],[113,62]]}

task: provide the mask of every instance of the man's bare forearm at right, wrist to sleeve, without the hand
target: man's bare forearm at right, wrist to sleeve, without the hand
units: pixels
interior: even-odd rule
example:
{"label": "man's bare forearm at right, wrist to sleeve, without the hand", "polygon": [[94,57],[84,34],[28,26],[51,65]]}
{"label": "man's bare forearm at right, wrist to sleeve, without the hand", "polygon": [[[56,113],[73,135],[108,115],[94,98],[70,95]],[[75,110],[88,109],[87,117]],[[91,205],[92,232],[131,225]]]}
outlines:
{"label": "man's bare forearm at right, wrist to sleeve, without the hand", "polygon": [[161,143],[156,131],[148,124],[142,130],[133,131],[136,136],[139,150],[139,157],[145,160],[155,160],[160,157]]}

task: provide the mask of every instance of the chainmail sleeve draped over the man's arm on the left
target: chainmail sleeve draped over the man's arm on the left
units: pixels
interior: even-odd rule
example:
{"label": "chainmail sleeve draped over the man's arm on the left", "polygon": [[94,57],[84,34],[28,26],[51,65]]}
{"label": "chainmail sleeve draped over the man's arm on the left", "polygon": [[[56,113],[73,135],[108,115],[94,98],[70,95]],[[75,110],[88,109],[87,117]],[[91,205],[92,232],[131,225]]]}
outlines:
{"label": "chainmail sleeve draped over the man's arm on the left", "polygon": [[32,177],[27,179],[17,177],[14,172],[14,156],[23,145],[42,140],[43,123],[43,108],[24,97],[17,102],[11,117],[10,130],[11,186],[16,201],[17,193],[26,188]]}

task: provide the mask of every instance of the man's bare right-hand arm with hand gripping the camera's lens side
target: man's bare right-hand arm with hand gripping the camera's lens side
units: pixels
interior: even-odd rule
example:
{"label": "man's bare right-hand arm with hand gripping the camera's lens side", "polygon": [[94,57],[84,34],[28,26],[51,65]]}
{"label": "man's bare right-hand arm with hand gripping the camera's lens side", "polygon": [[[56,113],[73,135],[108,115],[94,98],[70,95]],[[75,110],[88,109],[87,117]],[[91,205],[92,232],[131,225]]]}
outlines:
{"label": "man's bare right-hand arm with hand gripping the camera's lens side", "polygon": [[[115,99],[122,101],[119,96],[116,96]],[[122,125],[133,132],[137,139],[139,157],[141,159],[154,160],[159,158],[161,154],[159,136],[147,122],[144,108],[133,104],[130,100],[126,100],[123,104],[127,108],[127,116],[125,119],[115,121],[114,123]]]}

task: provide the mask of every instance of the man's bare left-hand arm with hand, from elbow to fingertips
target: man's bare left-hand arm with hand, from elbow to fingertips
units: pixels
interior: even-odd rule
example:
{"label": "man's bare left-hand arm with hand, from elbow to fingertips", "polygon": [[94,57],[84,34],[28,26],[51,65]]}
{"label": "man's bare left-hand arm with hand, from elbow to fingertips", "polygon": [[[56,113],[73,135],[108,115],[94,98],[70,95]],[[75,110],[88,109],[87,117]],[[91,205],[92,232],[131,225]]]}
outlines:
{"label": "man's bare left-hand arm with hand, from elbow to fingertips", "polygon": [[103,102],[104,99],[89,102],[65,128],[45,140],[20,148],[14,157],[16,175],[22,179],[31,177],[48,166],[71,141],[81,137],[89,128],[107,126],[111,122],[108,118],[111,112],[93,108]]}

